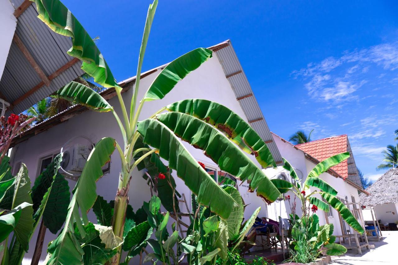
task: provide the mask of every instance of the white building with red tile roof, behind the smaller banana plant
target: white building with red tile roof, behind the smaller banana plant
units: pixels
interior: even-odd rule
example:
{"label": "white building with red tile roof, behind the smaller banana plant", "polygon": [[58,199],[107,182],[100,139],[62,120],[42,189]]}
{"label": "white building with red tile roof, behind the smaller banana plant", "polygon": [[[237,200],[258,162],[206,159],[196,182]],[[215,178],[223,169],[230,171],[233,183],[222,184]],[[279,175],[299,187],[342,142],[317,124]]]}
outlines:
{"label": "white building with red tile roof, behind the smaller banana plant", "polygon": [[[353,207],[359,209],[359,205],[351,203],[359,202],[358,194],[364,191],[358,177],[358,172],[347,135],[324,138],[305,144],[298,144],[296,146],[274,133],[272,135],[282,157],[285,158],[293,168],[295,168],[298,177],[304,181],[308,173],[310,173],[314,166],[316,166],[320,161],[325,160],[330,156],[334,156],[335,154],[350,152],[351,157],[348,160],[345,160],[339,165],[330,168],[327,172],[322,173],[320,178],[338,191],[337,197],[344,201],[345,204],[346,201],[348,201],[350,209],[353,209]],[[289,171],[285,170],[281,166],[276,169],[267,168],[264,171],[270,178],[281,178],[291,181]],[[310,187],[310,192],[314,190],[316,190],[316,188]],[[290,195],[291,197],[290,202],[277,201],[268,207],[269,218],[273,220],[278,220],[278,216],[289,218],[289,214],[291,213],[291,206],[289,203],[293,203],[294,194],[289,192],[285,194],[285,196],[287,195]],[[319,194],[316,194],[315,196],[318,197],[318,199],[322,199]],[[296,202],[296,214],[300,215],[301,203],[299,201]],[[320,219],[320,225],[326,223],[334,224],[334,235],[344,235],[347,234],[347,232],[350,234],[353,233],[352,228],[341,219],[334,208],[330,207],[330,211],[328,213],[320,210],[317,214]],[[359,218],[359,216],[356,217]]]}

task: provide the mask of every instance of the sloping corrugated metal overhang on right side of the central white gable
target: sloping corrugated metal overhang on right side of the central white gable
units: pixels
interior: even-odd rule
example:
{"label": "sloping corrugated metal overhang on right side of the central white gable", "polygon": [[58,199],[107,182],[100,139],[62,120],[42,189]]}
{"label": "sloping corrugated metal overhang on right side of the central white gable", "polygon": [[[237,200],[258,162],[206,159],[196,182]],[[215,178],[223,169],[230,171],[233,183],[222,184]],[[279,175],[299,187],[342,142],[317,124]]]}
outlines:
{"label": "sloping corrugated metal overhang on right side of the central white gable", "polygon": [[[225,76],[239,72],[238,74],[234,74],[233,76],[228,77],[228,81],[230,82],[236,97],[238,98],[245,95],[253,94],[253,90],[250,87],[249,81],[246,78],[242,66],[240,65],[238,57],[236,56],[234,48],[232,47],[231,41],[228,40],[225,43],[220,43],[219,45],[211,47],[211,49],[215,50],[215,53],[219,58],[222,68],[224,69]],[[267,146],[271,151],[274,160],[276,162],[282,162],[281,154],[279,153],[279,150],[275,142],[273,141],[267,122],[265,121],[263,113],[261,112],[261,109],[254,94],[250,97],[240,99],[239,103],[244,113],[246,114],[248,121],[257,120],[250,123],[253,129],[256,130],[256,132],[265,142],[271,141],[267,143]],[[282,163],[278,163],[278,165],[281,164]]]}

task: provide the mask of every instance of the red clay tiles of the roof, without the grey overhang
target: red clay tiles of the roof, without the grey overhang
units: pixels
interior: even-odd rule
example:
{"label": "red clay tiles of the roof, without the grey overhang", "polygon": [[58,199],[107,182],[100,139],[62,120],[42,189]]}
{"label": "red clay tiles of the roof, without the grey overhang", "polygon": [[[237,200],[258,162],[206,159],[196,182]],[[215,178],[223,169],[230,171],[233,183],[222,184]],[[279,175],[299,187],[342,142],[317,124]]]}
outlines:
{"label": "red clay tiles of the roof, without the grey overhang", "polygon": [[[347,134],[297,144],[296,146],[310,156],[322,161],[336,154],[347,152]],[[347,160],[331,169],[336,171],[344,179],[348,177]]]}

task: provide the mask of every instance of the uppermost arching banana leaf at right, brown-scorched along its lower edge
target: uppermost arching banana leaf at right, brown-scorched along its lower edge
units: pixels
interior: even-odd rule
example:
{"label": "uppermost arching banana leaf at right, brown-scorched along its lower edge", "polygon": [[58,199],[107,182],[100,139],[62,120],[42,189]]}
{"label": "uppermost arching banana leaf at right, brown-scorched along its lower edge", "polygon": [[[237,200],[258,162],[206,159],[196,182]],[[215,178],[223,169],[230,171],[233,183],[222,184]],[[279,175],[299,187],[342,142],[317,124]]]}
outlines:
{"label": "uppermost arching banana leaf at right, brown-scorched along its lower edge", "polygon": [[166,109],[194,116],[213,125],[244,152],[254,154],[263,168],[276,167],[263,139],[246,121],[227,107],[206,99],[184,99],[168,105]]}

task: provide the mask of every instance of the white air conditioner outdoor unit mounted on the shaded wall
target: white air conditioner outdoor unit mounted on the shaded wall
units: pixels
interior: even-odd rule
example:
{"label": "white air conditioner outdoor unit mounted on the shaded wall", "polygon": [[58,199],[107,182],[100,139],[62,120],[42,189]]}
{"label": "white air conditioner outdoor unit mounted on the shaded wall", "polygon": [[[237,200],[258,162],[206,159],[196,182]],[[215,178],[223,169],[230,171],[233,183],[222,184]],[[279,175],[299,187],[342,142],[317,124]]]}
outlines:
{"label": "white air conditioner outdoor unit mounted on the shaded wall", "polygon": [[64,150],[62,156],[62,168],[69,173],[81,173],[86,164],[90,150],[88,146],[75,144],[74,146]]}

